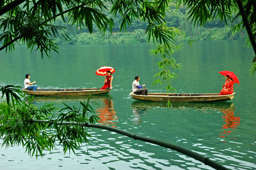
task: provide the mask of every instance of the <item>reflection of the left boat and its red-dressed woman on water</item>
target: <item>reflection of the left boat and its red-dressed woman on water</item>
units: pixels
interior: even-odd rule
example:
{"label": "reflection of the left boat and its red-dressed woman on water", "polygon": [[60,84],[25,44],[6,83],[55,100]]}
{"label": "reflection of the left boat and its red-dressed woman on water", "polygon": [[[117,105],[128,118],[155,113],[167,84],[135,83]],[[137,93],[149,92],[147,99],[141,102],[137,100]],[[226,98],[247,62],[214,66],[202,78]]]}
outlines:
{"label": "reflection of the left boat and its red-dressed woman on water", "polygon": [[[28,100],[28,97],[25,98]],[[86,102],[88,96],[35,96],[33,98],[33,104],[37,105],[40,102],[49,102],[49,103],[61,103],[64,102],[68,105],[77,104],[78,102]],[[101,125],[112,125],[112,127],[116,127],[117,116],[116,111],[114,110],[113,98],[109,94],[91,96],[90,102],[96,102],[97,105],[94,109],[97,116],[100,118],[99,122]],[[95,106],[95,105],[91,105]]]}

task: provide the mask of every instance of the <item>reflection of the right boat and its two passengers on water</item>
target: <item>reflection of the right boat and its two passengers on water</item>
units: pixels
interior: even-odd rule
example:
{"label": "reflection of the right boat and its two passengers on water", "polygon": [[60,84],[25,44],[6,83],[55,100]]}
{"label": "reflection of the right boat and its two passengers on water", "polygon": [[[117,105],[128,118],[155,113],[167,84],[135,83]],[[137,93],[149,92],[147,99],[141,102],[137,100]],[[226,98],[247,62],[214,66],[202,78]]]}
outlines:
{"label": "reflection of the right boat and its two passengers on water", "polygon": [[[159,107],[166,108],[165,102],[147,102],[147,101],[134,101],[131,104],[132,112],[133,112],[133,123],[140,124],[141,116],[145,116],[147,110],[156,109]],[[230,129],[236,129],[240,123],[240,117],[234,116],[235,106],[234,103],[231,102],[211,102],[211,103],[172,103],[170,108],[175,109],[195,109],[198,111],[209,112],[211,110],[220,111],[224,113],[222,115],[222,119],[224,120],[224,124],[221,129],[224,129],[219,135],[220,137],[225,138],[226,135],[230,135],[233,132]]]}

